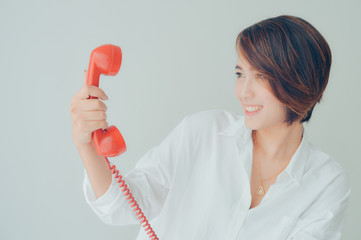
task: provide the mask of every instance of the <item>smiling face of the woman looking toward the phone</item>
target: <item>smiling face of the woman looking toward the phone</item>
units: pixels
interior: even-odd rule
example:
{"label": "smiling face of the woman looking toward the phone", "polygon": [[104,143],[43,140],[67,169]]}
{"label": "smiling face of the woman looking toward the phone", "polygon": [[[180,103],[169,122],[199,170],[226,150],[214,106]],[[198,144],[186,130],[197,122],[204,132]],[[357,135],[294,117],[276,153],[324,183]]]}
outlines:
{"label": "smiling face of the woman looking toward the phone", "polygon": [[239,55],[236,65],[236,96],[241,103],[246,127],[259,130],[285,126],[285,106],[267,87],[264,76]]}

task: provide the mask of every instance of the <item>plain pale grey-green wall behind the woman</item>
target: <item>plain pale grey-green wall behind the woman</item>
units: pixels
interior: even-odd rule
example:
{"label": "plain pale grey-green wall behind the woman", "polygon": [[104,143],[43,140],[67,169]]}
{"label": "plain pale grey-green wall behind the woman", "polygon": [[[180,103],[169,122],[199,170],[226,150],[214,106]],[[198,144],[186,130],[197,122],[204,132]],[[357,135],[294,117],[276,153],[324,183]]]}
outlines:
{"label": "plain pale grey-green wall behind the woman", "polygon": [[[91,51],[123,51],[117,76],[101,77],[108,123],[128,146],[111,159],[124,174],[185,117],[242,112],[234,94],[235,39],[287,14],[328,41],[333,62],[309,140],[348,173],[344,239],[361,234],[361,3],[343,1],[0,1],[1,239],[135,239],[140,225],[107,226],[86,204],[72,141],[70,99]],[[302,199],[300,199],[302,201]]]}

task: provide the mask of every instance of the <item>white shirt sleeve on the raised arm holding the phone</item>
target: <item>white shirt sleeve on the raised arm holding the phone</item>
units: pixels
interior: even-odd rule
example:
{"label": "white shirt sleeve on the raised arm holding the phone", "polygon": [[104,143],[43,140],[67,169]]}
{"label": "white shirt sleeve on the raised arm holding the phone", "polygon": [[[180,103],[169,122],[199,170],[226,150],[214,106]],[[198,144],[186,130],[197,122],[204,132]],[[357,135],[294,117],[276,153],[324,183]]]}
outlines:
{"label": "white shirt sleeve on the raised arm holding the phone", "polygon": [[[186,118],[158,146],[147,151],[135,168],[123,176],[132,196],[148,220],[159,214],[172,184],[182,145],[185,120]],[[119,188],[120,183],[116,183],[112,178],[108,190],[96,199],[86,170],[84,173],[83,192],[86,202],[103,222],[109,225],[139,223],[134,208]]]}

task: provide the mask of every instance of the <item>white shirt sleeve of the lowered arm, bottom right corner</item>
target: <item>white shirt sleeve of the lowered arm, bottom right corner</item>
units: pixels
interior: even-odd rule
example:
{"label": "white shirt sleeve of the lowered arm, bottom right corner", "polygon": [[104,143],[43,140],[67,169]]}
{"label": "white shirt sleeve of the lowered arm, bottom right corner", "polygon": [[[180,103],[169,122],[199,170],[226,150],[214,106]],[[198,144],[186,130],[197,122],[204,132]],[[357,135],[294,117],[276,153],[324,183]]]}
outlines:
{"label": "white shirt sleeve of the lowered arm, bottom right corner", "polygon": [[342,171],[299,219],[288,240],[341,240],[350,194],[347,175]]}

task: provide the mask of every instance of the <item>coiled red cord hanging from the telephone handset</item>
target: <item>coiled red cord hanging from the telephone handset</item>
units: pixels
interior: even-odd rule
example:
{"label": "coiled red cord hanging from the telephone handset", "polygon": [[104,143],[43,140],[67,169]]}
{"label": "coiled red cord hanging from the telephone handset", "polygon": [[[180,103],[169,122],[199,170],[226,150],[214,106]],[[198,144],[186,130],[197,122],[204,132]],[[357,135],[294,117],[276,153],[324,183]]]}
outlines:
{"label": "coiled red cord hanging from the telephone handset", "polygon": [[138,217],[138,219],[140,220],[141,224],[144,223],[142,226],[143,226],[144,230],[147,232],[147,234],[149,235],[149,238],[152,240],[159,240],[159,238],[155,234],[154,230],[148,223],[147,218],[144,216],[144,213],[140,209],[137,201],[135,201],[135,199],[133,198],[132,193],[130,192],[127,184],[125,184],[124,180],[122,179],[123,176],[119,174],[119,170],[117,170],[114,165],[111,165],[111,163],[109,162],[107,157],[104,157],[104,159],[108,163],[109,170],[111,170],[111,173],[113,174],[114,179],[118,178],[117,183],[120,183],[119,187],[122,188],[121,190],[124,192],[124,196],[128,196],[126,199],[129,200],[128,201],[129,204],[133,203],[130,207],[131,208],[135,207],[133,209],[134,212],[138,211],[137,213],[135,213],[135,215],[137,215],[137,216],[140,215]]}

